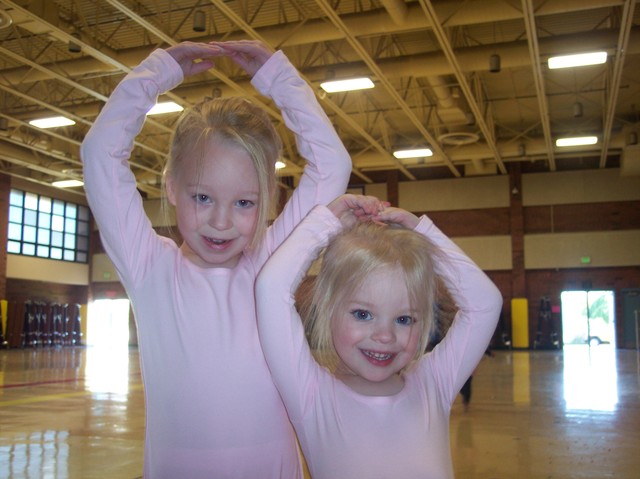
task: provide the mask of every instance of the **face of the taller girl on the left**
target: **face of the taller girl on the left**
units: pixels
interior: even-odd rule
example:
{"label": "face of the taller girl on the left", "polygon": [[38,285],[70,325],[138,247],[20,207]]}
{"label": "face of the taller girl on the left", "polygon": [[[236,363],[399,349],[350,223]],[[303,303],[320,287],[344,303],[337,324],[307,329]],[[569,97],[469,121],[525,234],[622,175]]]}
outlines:
{"label": "face of the taller girl on the left", "polygon": [[202,164],[185,161],[167,177],[184,255],[203,268],[233,268],[251,243],[258,217],[258,175],[242,148],[211,142]]}

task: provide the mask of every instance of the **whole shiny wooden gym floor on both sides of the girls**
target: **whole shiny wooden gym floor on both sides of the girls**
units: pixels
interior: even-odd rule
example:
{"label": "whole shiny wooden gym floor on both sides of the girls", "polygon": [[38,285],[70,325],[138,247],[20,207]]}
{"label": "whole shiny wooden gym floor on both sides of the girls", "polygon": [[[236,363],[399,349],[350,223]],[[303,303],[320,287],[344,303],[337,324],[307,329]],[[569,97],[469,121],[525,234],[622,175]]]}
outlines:
{"label": "whole shiny wooden gym floor on both sides of the girls", "polygon": [[[0,351],[0,478],[139,478],[143,435],[135,349]],[[640,477],[639,353],[495,351],[451,449],[460,479]]]}

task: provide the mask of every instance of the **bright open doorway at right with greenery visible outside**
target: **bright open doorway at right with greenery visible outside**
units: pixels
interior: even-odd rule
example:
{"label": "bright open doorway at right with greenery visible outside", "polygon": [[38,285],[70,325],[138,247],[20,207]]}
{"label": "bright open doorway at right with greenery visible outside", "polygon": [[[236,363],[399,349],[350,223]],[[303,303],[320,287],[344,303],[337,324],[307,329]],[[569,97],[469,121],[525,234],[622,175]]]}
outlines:
{"label": "bright open doorway at right with greenery visible outside", "polygon": [[564,345],[611,345],[615,349],[613,291],[563,291]]}

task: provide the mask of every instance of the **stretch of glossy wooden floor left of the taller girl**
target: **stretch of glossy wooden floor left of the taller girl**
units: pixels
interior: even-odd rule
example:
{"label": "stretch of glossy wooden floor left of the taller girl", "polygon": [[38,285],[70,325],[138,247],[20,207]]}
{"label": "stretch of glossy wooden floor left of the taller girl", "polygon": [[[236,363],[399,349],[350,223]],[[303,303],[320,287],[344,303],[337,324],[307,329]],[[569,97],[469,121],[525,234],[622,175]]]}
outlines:
{"label": "stretch of glossy wooden floor left of the taller girl", "polygon": [[140,477],[143,437],[136,350],[0,350],[0,479]]}

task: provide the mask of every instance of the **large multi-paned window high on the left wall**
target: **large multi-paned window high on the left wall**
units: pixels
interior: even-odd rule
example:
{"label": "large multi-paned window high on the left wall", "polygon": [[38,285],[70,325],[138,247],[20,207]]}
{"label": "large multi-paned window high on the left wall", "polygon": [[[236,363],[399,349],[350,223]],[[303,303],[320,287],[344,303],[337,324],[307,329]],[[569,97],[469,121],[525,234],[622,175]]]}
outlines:
{"label": "large multi-paned window high on the left wall", "polygon": [[89,257],[89,208],[11,190],[7,252],[86,263]]}

